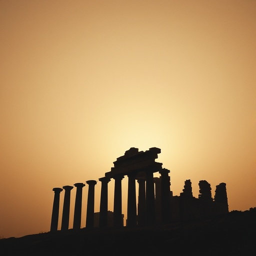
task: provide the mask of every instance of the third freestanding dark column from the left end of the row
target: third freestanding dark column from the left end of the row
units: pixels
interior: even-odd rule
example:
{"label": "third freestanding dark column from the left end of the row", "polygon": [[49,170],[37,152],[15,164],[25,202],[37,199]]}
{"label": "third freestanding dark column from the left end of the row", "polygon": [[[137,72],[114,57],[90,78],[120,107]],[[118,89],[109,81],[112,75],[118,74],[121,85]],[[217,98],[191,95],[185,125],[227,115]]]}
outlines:
{"label": "third freestanding dark column from the left end of the row", "polygon": [[79,229],[81,227],[81,210],[82,210],[82,188],[85,186],[83,183],[75,183],[76,194],[74,203],[74,220],[73,229]]}

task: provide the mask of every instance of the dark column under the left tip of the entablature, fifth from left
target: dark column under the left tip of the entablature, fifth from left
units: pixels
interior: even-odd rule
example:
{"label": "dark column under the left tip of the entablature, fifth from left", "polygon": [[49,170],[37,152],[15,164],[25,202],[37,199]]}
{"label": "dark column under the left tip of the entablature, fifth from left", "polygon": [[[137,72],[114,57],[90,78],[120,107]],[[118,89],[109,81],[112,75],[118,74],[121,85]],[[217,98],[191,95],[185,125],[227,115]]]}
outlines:
{"label": "dark column under the left tip of the entablature, fifth from left", "polygon": [[107,183],[110,181],[110,178],[102,177],[98,180],[101,181],[99,227],[105,227],[107,226]]}

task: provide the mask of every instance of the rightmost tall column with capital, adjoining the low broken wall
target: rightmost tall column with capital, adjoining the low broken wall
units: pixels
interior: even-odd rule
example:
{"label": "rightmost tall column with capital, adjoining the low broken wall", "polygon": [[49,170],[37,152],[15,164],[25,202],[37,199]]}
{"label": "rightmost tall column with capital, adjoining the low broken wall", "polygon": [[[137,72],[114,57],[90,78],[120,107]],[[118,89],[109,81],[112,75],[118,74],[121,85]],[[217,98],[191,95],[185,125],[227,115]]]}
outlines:
{"label": "rightmost tall column with capital, adjoining the low broken wall", "polygon": [[170,177],[168,169],[161,169],[161,219],[162,223],[170,222]]}

